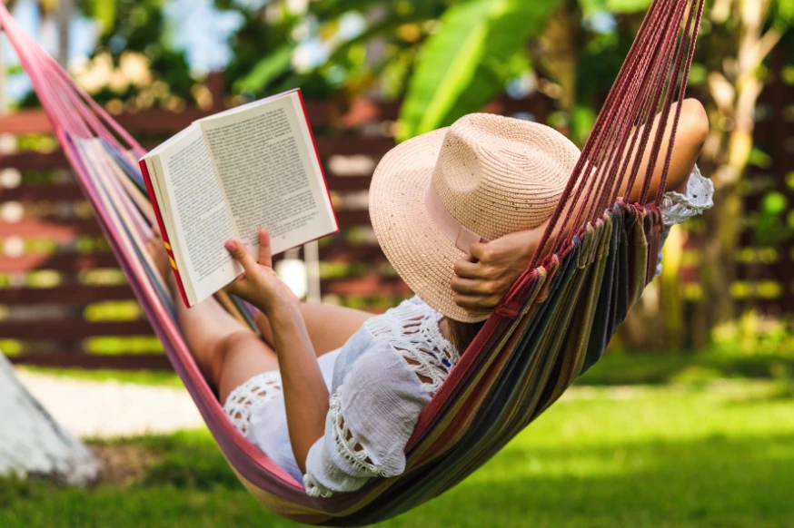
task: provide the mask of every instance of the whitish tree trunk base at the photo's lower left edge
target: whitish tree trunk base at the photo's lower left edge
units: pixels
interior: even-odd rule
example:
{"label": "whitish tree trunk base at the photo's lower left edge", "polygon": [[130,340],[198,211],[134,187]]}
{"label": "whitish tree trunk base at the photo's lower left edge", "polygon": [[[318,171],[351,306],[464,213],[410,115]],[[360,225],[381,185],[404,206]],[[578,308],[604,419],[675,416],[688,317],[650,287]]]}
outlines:
{"label": "whitish tree trunk base at the photo's lower left edge", "polygon": [[99,474],[94,454],[55,423],[0,353],[0,475],[46,475],[84,485]]}

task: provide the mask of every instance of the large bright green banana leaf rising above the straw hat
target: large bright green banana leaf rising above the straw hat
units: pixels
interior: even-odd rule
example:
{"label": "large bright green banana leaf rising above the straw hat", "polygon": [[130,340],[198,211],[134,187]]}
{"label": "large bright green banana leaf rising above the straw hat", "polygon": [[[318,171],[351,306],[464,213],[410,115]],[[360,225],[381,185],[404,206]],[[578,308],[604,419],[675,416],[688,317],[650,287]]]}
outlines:
{"label": "large bright green banana leaf rising above the straw hat", "polygon": [[450,7],[422,48],[400,116],[399,139],[481,109],[501,93],[509,64],[558,0],[468,0]]}

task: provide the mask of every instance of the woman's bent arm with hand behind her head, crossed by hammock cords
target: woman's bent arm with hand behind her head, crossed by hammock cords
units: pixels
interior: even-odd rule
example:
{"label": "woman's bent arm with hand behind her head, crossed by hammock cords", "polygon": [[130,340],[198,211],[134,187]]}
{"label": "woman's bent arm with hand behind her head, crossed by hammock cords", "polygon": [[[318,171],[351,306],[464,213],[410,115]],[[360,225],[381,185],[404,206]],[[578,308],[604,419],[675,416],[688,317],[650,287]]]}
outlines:
{"label": "woman's bent arm with hand behind her head, crossed by hammock cords", "polygon": [[[678,103],[673,105],[670,110],[670,119],[667,130],[662,140],[660,159],[654,165],[652,178],[650,181],[649,196],[655,195],[659,189],[662,172],[664,171],[664,155],[667,152],[667,145],[670,144],[672,132],[673,112],[678,108]],[[661,116],[656,116],[651,128],[651,141],[659,130]],[[665,191],[680,190],[686,185],[687,177],[694,168],[695,162],[700,156],[700,149],[709,135],[709,118],[702,104],[694,99],[687,99],[681,106],[681,116],[676,132],[676,141],[670,161],[670,172]],[[628,152],[623,154],[623,157]],[[636,159],[636,152],[632,155],[629,168],[632,167]],[[637,181],[631,188],[628,196],[630,202],[640,198],[642,178],[650,164],[650,150],[643,152],[640,161],[640,172]],[[621,191],[618,193],[625,196],[628,181],[624,181]],[[594,193],[586,193],[594,194]],[[562,198],[565,200],[565,197]],[[588,207],[591,201],[584,200],[577,205],[580,208]],[[570,207],[570,206],[569,206]],[[563,217],[567,210],[563,210]],[[469,309],[491,309],[496,307],[501,298],[511,288],[513,282],[523,273],[530,261],[538,244],[541,241],[543,232],[546,230],[548,222],[535,228],[534,230],[521,231],[505,235],[497,240],[491,240],[487,244],[473,244],[470,254],[455,263],[455,277],[452,279],[452,289],[455,291],[455,302],[462,308]],[[556,235],[552,233],[552,237]]]}

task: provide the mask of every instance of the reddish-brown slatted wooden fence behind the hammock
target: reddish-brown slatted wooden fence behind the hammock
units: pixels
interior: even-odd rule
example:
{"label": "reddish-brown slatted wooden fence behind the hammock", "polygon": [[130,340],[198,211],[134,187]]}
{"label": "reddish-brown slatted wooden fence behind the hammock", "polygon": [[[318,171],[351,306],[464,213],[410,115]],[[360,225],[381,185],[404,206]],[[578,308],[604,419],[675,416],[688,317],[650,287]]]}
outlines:
{"label": "reddish-brown slatted wooden fence behind the hammock", "polygon": [[[220,101],[217,78],[214,101]],[[343,112],[307,104],[341,232],[320,244],[323,299],[382,310],[410,295],[383,257],[367,212],[372,171],[394,145],[398,105],[357,101]],[[493,103],[491,112],[545,117],[541,97]],[[209,112],[151,110],[118,122],[154,146]],[[333,117],[332,116],[337,116]],[[43,112],[0,118],[20,145],[51,132]],[[0,155],[0,349],[49,367],[167,368],[65,156],[57,149]]]}

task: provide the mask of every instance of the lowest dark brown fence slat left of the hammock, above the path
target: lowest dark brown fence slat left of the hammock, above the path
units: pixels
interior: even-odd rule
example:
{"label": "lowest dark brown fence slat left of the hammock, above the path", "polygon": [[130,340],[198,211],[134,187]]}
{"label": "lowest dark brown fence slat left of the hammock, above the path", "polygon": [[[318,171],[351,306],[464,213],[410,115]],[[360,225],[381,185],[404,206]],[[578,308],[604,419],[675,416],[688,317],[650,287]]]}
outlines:
{"label": "lowest dark brown fence slat left of the hammock, above the path", "polygon": [[164,354],[118,354],[105,356],[99,354],[55,353],[21,354],[9,357],[15,365],[51,368],[84,368],[95,370],[109,368],[114,370],[171,370],[171,363]]}

